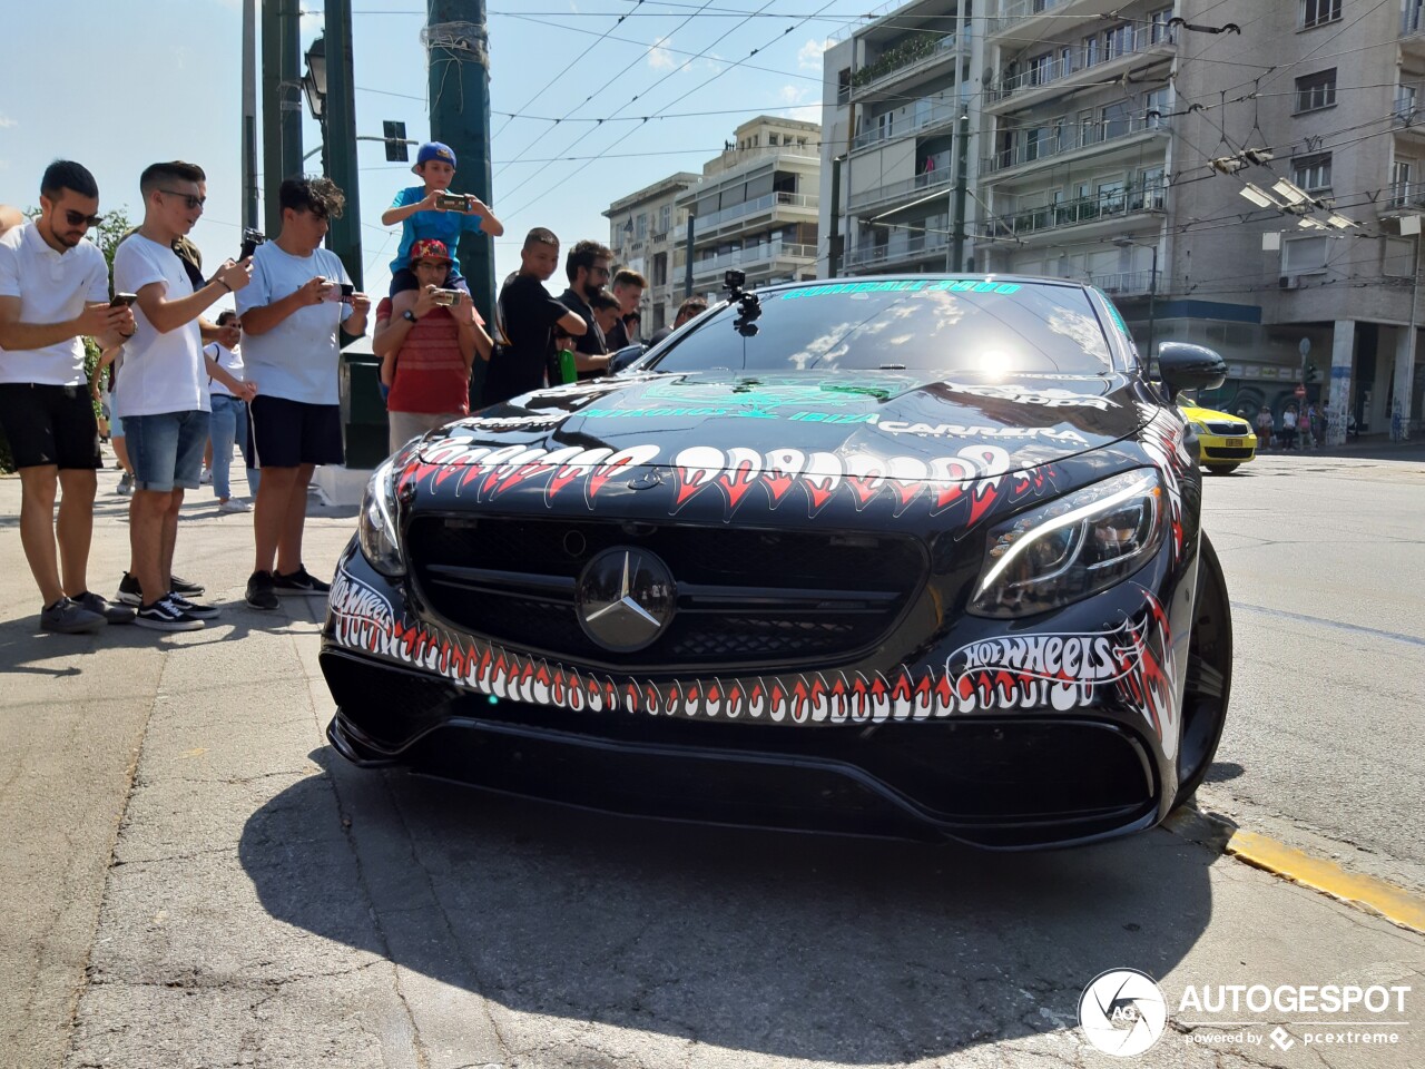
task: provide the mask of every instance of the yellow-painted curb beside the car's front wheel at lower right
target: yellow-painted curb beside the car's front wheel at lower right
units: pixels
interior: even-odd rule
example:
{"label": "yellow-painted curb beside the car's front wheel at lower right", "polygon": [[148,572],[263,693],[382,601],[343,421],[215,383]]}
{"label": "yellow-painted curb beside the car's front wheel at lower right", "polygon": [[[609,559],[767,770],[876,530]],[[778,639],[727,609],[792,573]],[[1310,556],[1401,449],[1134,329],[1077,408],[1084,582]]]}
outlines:
{"label": "yellow-painted curb beside the car's front wheel at lower right", "polygon": [[1254,831],[1243,831],[1221,817],[1191,807],[1170,814],[1163,827],[1190,842],[1220,849],[1253,868],[1340,898],[1347,905],[1425,935],[1425,898],[1384,879],[1347,872],[1337,864]]}

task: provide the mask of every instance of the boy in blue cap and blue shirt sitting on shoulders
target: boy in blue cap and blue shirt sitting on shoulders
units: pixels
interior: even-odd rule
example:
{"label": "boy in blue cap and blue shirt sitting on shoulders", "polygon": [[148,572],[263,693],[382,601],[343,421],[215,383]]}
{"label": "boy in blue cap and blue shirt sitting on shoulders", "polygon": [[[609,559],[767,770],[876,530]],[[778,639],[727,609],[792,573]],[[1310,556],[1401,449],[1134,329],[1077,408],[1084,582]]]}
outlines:
{"label": "boy in blue cap and blue shirt sitting on shoulders", "polygon": [[[390,261],[392,318],[399,318],[416,304],[416,291],[420,286],[410,271],[412,245],[433,238],[443,242],[453,255],[465,231],[479,231],[492,238],[504,232],[504,224],[494,218],[494,212],[479,197],[447,192],[455,180],[455,153],[450,145],[440,141],[420,145],[410,170],[420,175],[425,185],[410,185],[398,192],[380,217],[383,227],[400,224],[400,248]],[[465,201],[463,207],[445,207],[456,197]],[[470,292],[457,262],[450,265],[446,288]]]}

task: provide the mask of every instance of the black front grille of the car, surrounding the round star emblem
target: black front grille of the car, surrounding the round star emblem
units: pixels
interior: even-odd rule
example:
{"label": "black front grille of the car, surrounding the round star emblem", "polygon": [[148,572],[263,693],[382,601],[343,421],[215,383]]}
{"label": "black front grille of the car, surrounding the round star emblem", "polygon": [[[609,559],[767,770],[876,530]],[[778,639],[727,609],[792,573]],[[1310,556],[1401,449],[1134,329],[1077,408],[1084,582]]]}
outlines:
{"label": "black front grille of the car, surrounding the round star emblem", "polygon": [[[584,566],[614,546],[656,553],[678,607],[648,647],[613,653],[579,623]],[[667,671],[828,664],[875,646],[926,576],[919,539],[656,523],[423,515],[406,532],[422,599],[475,634],[573,664]]]}

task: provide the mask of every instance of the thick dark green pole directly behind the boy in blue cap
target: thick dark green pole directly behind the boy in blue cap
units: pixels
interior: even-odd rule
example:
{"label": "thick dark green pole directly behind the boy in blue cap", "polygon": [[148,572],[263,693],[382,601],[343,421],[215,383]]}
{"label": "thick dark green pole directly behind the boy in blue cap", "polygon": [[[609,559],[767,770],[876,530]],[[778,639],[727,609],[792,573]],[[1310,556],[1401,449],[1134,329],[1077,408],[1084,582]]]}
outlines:
{"label": "thick dark green pole directly behind the boy in blue cap", "polygon": [[[499,208],[490,190],[490,48],[484,0],[428,0],[430,137],[456,155],[456,192],[473,192]],[[570,242],[573,244],[573,242]],[[457,252],[486,322],[494,318],[494,247],[483,234],[465,234]],[[476,361],[483,371],[484,362]]]}

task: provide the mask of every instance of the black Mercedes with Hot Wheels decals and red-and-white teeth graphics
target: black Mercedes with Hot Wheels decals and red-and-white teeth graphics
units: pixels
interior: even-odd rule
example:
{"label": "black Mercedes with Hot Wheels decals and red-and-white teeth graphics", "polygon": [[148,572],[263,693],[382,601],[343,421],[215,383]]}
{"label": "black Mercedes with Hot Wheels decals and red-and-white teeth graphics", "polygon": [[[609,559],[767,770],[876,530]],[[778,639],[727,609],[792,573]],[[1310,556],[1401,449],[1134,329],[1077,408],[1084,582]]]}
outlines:
{"label": "black Mercedes with Hot Wheels decals and red-and-white teeth graphics", "polygon": [[1077,284],[742,292],[408,443],[341,557],[332,744],[670,820],[1016,848],[1191,795],[1231,681],[1197,443]]}

